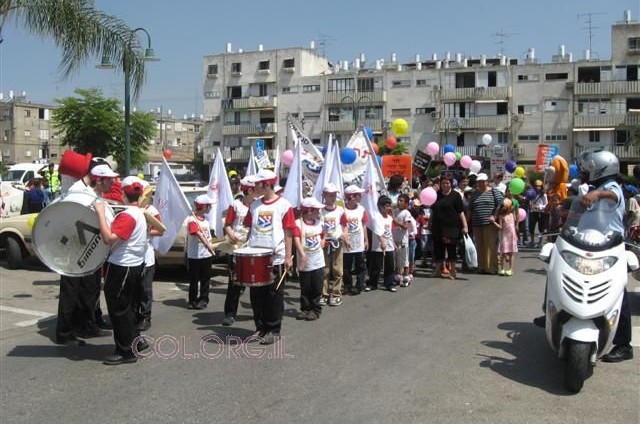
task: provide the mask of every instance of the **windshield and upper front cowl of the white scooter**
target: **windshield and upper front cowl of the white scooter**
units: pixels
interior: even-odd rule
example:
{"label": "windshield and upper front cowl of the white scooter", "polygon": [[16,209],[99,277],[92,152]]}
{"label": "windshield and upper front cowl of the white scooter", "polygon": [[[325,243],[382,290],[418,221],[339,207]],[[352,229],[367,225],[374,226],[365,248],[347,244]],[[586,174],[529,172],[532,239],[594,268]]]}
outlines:
{"label": "windshield and upper front cowl of the white scooter", "polygon": [[560,237],[569,244],[590,251],[602,251],[622,243],[622,234],[610,228],[612,213],[611,202],[599,200],[586,209],[582,197],[576,197],[571,203]]}

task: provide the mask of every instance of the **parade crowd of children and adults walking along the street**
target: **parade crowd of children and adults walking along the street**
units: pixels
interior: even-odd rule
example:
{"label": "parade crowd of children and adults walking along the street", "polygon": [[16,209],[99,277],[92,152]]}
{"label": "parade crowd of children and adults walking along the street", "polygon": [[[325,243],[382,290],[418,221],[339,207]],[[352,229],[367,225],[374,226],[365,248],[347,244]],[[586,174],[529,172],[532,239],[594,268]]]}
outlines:
{"label": "parade crowd of children and adults walking along the street", "polygon": [[[92,190],[101,197],[110,191],[118,175],[99,160],[91,160],[88,166],[86,176],[71,190]],[[531,246],[536,235],[539,243],[545,238],[551,241],[554,235],[549,232],[557,231],[566,216],[566,202],[561,204],[555,198],[549,201],[541,181],[532,181],[515,196],[500,174],[490,182],[484,173],[444,172],[435,178],[423,176],[415,185],[393,176],[374,211],[365,210],[361,204],[364,190],[356,185],[346,187],[339,202],[338,187],[326,184],[322,202],[308,197],[294,208],[280,195],[277,175],[271,170],[233,178],[235,200],[226,213],[224,236],[234,248],[270,249],[273,260],[269,281],[253,285],[238,281],[234,255],[229,255],[222,324],[235,323],[240,296],[248,287],[255,324],[252,338],[261,344],[274,343],[280,336],[282,282],[287,275],[295,275],[300,284],[296,318],[315,321],[323,307],[343,305],[347,294],[356,296],[379,288],[394,293],[398,287],[409,287],[420,259],[432,278],[455,280],[459,271],[510,277],[515,273],[519,247]],[[589,192],[588,177],[583,181],[571,183],[571,194],[583,189]],[[80,183],[82,187],[77,186]],[[145,184],[137,177],[124,178],[122,202],[140,206]],[[429,206],[420,199],[426,187],[437,193]],[[637,185],[626,183],[623,190],[625,223],[629,231],[638,231]],[[209,303],[212,261],[217,254],[205,219],[211,203],[207,195],[197,197],[187,224],[190,309],[205,309]],[[57,341],[82,344],[78,336],[103,335],[103,329],[112,326],[116,350],[105,363],[135,362],[136,353],[147,347],[138,336],[151,326],[153,248],[148,239],[156,234],[147,229],[141,215],[131,212],[137,208],[118,214],[112,224],[104,219],[103,207],[96,209],[101,235],[105,243],[114,246],[104,273],[111,325],[102,320],[98,309],[100,271],[81,278],[62,277]],[[528,219],[522,219],[520,210],[527,212]],[[157,210],[150,213],[160,219]],[[472,269],[461,254],[468,236],[476,246],[477,269]]]}

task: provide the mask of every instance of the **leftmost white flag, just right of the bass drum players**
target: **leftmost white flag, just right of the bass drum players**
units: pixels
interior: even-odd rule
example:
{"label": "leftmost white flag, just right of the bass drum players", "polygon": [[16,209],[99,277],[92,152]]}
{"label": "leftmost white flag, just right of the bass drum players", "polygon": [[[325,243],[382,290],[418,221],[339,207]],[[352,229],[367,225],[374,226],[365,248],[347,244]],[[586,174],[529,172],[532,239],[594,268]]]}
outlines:
{"label": "leftmost white flag, just right of the bass drum players", "polygon": [[164,158],[160,165],[158,186],[153,195],[153,206],[160,212],[162,223],[167,230],[159,237],[152,237],[151,244],[158,253],[164,255],[171,248],[184,220],[191,215],[191,205]]}

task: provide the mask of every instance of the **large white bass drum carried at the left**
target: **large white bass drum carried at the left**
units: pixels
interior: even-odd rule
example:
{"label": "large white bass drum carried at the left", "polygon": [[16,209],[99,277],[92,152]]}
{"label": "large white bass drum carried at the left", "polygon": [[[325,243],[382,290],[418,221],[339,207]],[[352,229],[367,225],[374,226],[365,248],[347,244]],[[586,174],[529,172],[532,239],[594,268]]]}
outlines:
{"label": "large white bass drum carried at the left", "polygon": [[[102,242],[93,193],[75,191],[44,208],[33,226],[33,249],[52,271],[69,277],[95,272],[106,261],[109,246]],[[113,210],[106,205],[107,222]]]}

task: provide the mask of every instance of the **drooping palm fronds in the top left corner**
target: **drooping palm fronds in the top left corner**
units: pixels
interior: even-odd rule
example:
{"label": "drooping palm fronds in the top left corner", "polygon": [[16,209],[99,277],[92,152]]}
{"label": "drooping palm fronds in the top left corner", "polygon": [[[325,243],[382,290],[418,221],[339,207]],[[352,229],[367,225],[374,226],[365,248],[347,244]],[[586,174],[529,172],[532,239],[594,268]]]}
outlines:
{"label": "drooping palm fronds in the top left corner", "polygon": [[[68,78],[89,59],[130,66],[133,97],[144,83],[141,45],[129,26],[98,10],[91,0],[0,0],[0,34],[9,21],[31,34],[49,38],[62,50],[60,71]],[[123,66],[118,66],[124,69]]]}

